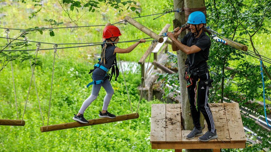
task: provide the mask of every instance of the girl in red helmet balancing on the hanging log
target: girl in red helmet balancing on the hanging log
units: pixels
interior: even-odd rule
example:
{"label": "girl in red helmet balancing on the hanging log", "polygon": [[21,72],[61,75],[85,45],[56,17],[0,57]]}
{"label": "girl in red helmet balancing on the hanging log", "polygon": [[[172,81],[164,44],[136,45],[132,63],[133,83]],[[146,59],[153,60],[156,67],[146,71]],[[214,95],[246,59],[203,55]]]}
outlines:
{"label": "girl in red helmet balancing on the hanging log", "polygon": [[99,117],[116,117],[115,115],[107,111],[110,99],[114,93],[111,83],[108,80],[107,69],[109,69],[114,63],[114,60],[116,59],[116,53],[130,53],[139,43],[146,42],[145,39],[140,39],[139,42],[134,43],[128,48],[121,49],[115,46],[116,42],[119,41],[119,36],[121,36],[121,33],[116,26],[111,25],[110,23],[107,23],[105,25],[105,28],[103,29],[103,42],[111,43],[103,43],[102,45],[101,60],[97,64],[95,64],[95,69],[92,74],[93,87],[91,95],[83,102],[77,115],[74,114],[74,117],[72,118],[73,120],[80,123],[89,123],[84,118],[83,113],[85,112],[87,107],[89,107],[89,105],[97,98],[101,87],[105,89],[106,95],[103,100],[103,108],[102,111],[100,111],[99,113]]}

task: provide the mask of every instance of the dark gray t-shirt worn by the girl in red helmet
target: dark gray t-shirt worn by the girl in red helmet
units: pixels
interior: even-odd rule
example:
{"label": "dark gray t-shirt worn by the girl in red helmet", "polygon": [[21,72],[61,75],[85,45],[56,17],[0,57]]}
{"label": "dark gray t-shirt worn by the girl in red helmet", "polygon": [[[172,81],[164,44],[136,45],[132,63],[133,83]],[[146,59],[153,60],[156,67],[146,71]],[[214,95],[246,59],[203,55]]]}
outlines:
{"label": "dark gray t-shirt worn by the girl in red helmet", "polygon": [[[105,44],[107,44],[106,49],[105,49],[105,64],[103,63],[103,59],[101,59],[101,63],[99,63],[99,62],[98,63],[108,69],[114,63],[114,60],[116,58],[117,53],[114,54],[114,50],[116,47],[111,45],[110,43],[103,43],[102,48],[104,47]],[[103,71],[100,68],[96,68],[93,71],[93,74],[104,76],[105,71]]]}

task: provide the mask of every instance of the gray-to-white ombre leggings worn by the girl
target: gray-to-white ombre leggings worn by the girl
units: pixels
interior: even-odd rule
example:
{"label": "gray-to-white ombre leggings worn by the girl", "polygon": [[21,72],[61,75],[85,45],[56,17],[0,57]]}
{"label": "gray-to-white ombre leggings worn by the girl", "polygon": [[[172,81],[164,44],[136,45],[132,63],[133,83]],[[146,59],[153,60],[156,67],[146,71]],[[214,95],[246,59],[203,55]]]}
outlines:
{"label": "gray-to-white ombre leggings worn by the girl", "polygon": [[[92,79],[93,79],[93,81],[101,80],[101,79],[103,79],[103,76],[92,74]],[[105,98],[103,99],[103,109],[102,110],[107,110],[107,107],[109,105],[111,97],[114,93],[112,85],[108,79],[103,81],[103,83],[100,83],[98,85],[94,84],[92,86],[91,95],[83,102],[83,104],[79,110],[79,113],[83,114],[85,112],[85,110],[87,109],[87,107],[89,107],[89,105],[97,98],[101,87],[103,87],[106,91]]]}

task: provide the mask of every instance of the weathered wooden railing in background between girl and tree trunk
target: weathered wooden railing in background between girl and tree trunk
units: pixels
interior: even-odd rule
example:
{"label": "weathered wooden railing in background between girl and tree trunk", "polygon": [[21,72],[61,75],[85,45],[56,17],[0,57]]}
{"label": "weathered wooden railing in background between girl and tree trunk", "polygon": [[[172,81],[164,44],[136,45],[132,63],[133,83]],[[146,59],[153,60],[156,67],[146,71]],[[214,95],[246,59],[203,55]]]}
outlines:
{"label": "weathered wooden railing in background between girl and tree trunk", "polygon": [[[170,24],[166,24],[164,26],[164,28],[162,29],[162,31],[159,33],[159,35],[162,35],[162,33],[165,33],[168,31],[168,28],[170,27]],[[159,50],[161,49],[161,47],[164,45],[164,47],[161,49],[161,51],[167,51],[167,46],[168,46],[168,37],[164,37],[164,41],[162,43],[155,43],[154,44],[154,48],[152,50],[152,53],[154,53],[154,61],[157,61],[157,53],[159,52]],[[143,84],[144,81],[144,77],[145,77],[145,60],[148,57],[149,53],[150,53],[150,49],[151,49],[151,45],[150,47],[147,49],[147,51],[144,53],[144,55],[140,58],[140,60],[138,61],[138,64],[141,65],[141,86]],[[149,68],[150,69],[150,68]],[[148,70],[149,70],[148,69]],[[156,67],[155,67],[156,69]],[[148,72],[147,70],[147,72]],[[145,86],[143,86],[145,87]]]}

